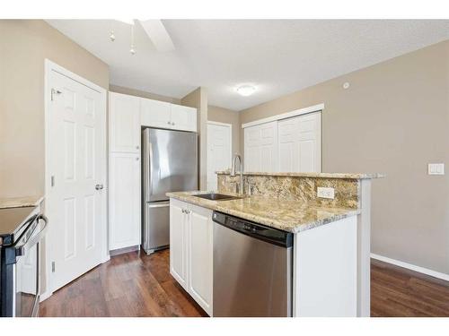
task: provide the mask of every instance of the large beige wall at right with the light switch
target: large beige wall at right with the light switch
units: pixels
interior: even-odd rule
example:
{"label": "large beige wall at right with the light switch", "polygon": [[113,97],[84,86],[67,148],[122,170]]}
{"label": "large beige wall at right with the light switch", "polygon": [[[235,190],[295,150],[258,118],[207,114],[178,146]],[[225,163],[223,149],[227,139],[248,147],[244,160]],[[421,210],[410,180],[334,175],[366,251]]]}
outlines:
{"label": "large beige wall at right with the light switch", "polygon": [[449,273],[449,176],[427,175],[427,163],[449,163],[448,99],[445,41],[248,108],[241,122],[324,103],[323,171],[387,174],[373,183],[372,252]]}

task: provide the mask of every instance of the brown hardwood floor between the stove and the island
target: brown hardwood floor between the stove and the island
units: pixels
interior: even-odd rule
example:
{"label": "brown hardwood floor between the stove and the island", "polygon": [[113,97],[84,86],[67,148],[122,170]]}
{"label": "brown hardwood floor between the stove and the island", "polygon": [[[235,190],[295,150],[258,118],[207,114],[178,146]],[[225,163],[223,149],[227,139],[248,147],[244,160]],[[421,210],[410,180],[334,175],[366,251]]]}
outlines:
{"label": "brown hardwood floor between the stove and the island", "polygon": [[172,278],[169,251],[112,257],[40,304],[40,316],[207,316]]}

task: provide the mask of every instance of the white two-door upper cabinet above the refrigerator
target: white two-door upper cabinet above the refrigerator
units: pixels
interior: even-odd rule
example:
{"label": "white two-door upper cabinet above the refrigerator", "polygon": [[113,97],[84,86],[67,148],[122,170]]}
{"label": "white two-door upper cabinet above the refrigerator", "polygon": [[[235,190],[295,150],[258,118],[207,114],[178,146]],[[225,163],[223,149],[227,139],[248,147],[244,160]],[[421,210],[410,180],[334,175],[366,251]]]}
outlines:
{"label": "white two-door upper cabinet above the refrigerator", "polygon": [[197,109],[152,99],[141,99],[141,125],[197,132]]}

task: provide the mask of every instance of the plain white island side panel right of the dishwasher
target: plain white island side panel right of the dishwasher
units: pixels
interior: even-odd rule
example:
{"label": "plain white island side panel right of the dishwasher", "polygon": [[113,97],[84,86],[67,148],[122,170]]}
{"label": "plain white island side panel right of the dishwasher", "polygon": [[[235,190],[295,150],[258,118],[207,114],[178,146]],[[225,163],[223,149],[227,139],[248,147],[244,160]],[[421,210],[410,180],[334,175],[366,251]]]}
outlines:
{"label": "plain white island side panel right of the dishwasher", "polygon": [[295,234],[294,316],[357,316],[357,216]]}

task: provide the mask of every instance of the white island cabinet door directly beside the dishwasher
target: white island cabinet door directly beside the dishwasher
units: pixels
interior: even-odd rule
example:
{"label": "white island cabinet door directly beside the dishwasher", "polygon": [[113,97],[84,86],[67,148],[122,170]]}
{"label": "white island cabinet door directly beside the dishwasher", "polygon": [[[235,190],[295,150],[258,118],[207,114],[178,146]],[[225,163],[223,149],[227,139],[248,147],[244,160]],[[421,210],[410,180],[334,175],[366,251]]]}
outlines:
{"label": "white island cabinet door directly beside the dishwasher", "polygon": [[189,205],[188,291],[198,305],[211,315],[213,293],[212,211]]}

